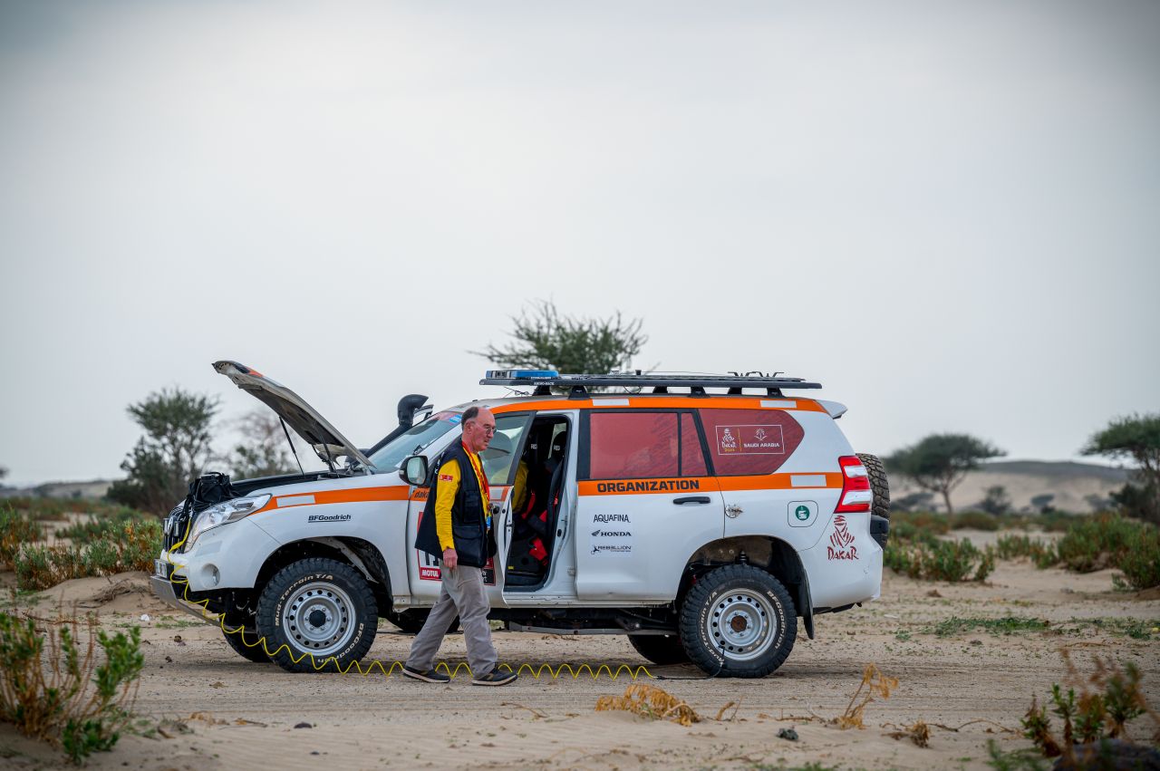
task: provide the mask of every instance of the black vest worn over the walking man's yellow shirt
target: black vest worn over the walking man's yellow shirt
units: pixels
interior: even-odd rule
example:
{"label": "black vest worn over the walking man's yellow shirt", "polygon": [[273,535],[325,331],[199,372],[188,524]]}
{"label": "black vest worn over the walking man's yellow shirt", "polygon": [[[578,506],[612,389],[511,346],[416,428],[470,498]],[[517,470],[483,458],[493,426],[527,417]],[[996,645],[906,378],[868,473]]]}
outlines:
{"label": "black vest worn over the walking man's yellow shirt", "polygon": [[451,538],[455,540],[455,553],[461,565],[481,568],[487,565],[487,558],[495,554],[495,538],[487,529],[484,492],[479,487],[479,478],[476,477],[476,470],[462,442],[452,444],[435,460],[432,472],[434,481],[427,493],[423,516],[419,521],[415,548],[443,559],[443,547],[438,543],[438,531],[435,528],[435,501],[438,499],[440,467],[452,459],[459,464],[459,489],[456,490],[455,502],[451,504]]}

